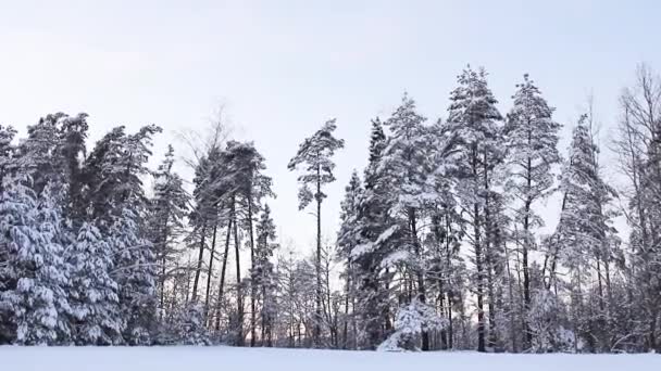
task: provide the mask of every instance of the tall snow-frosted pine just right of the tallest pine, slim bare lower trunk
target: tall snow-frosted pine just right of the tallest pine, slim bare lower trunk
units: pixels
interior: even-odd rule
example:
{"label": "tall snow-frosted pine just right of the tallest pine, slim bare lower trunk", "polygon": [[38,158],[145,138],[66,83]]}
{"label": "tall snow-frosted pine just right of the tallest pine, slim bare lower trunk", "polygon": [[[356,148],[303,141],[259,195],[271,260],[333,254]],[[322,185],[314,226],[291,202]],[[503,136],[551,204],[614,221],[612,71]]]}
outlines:
{"label": "tall snow-frosted pine just right of the tallest pine, slim bare lower trunk", "polygon": [[[527,74],[523,78],[523,82],[516,86],[504,135],[510,170],[506,189],[514,197],[517,207],[514,222],[520,225],[516,229],[520,234],[514,238],[521,245],[524,309],[527,310],[531,305],[528,253],[535,246],[533,230],[542,225],[541,218],[534,212],[534,205],[552,191],[553,165],[560,162],[560,124],[553,120],[554,108],[548,105],[534,81]],[[532,335],[526,330],[526,346],[531,345]]]}

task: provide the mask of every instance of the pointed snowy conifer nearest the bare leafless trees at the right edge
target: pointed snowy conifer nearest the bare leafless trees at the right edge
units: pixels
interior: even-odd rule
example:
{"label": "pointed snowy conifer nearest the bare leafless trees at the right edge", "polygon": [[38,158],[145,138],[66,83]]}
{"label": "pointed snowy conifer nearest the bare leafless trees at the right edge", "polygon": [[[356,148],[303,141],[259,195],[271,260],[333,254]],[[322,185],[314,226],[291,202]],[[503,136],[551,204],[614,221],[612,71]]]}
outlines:
{"label": "pointed snowy conifer nearest the bare leafless trees at the right edge", "polygon": [[[601,271],[601,267],[609,266],[611,256],[615,255],[612,236],[616,233],[608,214],[609,203],[612,202],[615,192],[599,174],[596,157],[598,149],[593,140],[593,132],[587,125],[587,120],[588,116],[583,115],[573,129],[569,162],[561,174],[562,212],[552,239],[554,248],[551,257],[551,266],[558,259],[569,270],[571,278],[571,282],[568,282],[570,296],[581,302],[584,300],[585,283],[591,277],[593,267],[598,267],[596,273],[599,282],[602,281],[604,272]],[[550,269],[554,269],[554,267]],[[551,280],[554,280],[554,271],[550,273]],[[606,297],[601,286],[600,291],[598,300],[604,309]],[[582,303],[573,300],[572,306],[574,307],[574,317],[587,315],[586,310],[582,310]],[[599,316],[599,318],[584,317],[584,320],[574,319],[576,323],[595,323],[595,329],[607,327],[603,316]],[[599,324],[597,325],[597,323]],[[586,344],[594,344],[594,340],[598,340],[604,343],[599,346],[608,347],[608,344],[606,344],[608,341],[603,340],[602,336],[597,336],[596,331],[588,332],[591,334],[588,338],[585,338]],[[593,350],[596,349],[593,347]]]}

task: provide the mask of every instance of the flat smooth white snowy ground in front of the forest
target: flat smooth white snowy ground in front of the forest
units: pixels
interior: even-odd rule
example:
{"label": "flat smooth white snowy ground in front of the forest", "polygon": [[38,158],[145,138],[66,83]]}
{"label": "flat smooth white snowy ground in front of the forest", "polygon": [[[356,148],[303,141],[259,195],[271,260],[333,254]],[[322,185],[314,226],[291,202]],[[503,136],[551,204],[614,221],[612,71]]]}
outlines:
{"label": "flat smooth white snowy ground in front of the forest", "polygon": [[484,355],[232,347],[0,347],[7,371],[647,371],[661,355]]}

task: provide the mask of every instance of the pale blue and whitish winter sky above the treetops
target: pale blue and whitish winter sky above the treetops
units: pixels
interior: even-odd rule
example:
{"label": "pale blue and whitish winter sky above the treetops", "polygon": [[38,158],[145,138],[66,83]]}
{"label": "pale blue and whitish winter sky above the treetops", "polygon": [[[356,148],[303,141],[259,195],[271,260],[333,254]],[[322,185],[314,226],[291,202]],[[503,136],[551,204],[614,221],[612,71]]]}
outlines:
{"label": "pale blue and whitish winter sky above the treetops", "polygon": [[[661,71],[659,14],[654,0],[0,0],[0,124],[25,132],[48,113],[85,112],[92,142],[116,125],[157,124],[155,165],[167,143],[185,155],[178,133],[204,132],[223,107],[234,137],[266,158],[280,241],[312,251],[314,217],[298,210],[287,163],[325,120],[346,140],[322,210],[334,240],[370,120],[404,91],[431,121],[445,118],[457,75],[484,66],[504,114],[528,73],[565,125],[563,153],[590,94],[606,148],[636,65]],[[559,202],[538,210],[550,226]]]}

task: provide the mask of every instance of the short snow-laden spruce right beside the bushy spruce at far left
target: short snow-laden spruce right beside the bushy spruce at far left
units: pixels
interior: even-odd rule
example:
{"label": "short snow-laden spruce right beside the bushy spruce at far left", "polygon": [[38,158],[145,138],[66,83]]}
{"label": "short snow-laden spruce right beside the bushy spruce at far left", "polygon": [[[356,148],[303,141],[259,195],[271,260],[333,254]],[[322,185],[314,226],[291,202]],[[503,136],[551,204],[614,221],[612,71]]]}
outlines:
{"label": "short snow-laden spruce right beside the bushy spruce at far left", "polygon": [[72,267],[70,302],[75,344],[122,344],[124,323],[117,283],[110,276],[114,267],[110,244],[93,225],[84,222],[66,255]]}

